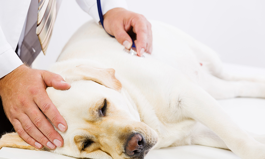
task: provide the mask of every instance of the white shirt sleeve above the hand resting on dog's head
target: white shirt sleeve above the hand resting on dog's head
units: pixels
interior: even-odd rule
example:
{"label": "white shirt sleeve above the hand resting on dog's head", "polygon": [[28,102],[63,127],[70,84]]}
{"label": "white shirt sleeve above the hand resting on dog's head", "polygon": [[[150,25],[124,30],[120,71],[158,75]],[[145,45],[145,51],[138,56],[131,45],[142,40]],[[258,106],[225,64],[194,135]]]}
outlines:
{"label": "white shirt sleeve above the hand resting on dog's head", "polygon": [[0,78],[9,74],[21,64],[23,64],[22,61],[6,41],[6,37],[0,26]]}

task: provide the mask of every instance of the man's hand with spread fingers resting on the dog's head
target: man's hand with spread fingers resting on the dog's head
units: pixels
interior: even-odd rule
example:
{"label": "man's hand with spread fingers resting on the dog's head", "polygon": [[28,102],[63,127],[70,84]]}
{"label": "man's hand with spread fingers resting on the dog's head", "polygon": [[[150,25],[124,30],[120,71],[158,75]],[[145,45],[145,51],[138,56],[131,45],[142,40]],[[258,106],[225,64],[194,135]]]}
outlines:
{"label": "man's hand with spread fingers resting on the dog's head", "polygon": [[42,145],[51,149],[63,145],[62,137],[45,115],[62,132],[67,129],[64,118],[47,95],[47,87],[67,90],[71,85],[58,74],[25,65],[0,79],[0,95],[6,116],[19,136],[38,149]]}

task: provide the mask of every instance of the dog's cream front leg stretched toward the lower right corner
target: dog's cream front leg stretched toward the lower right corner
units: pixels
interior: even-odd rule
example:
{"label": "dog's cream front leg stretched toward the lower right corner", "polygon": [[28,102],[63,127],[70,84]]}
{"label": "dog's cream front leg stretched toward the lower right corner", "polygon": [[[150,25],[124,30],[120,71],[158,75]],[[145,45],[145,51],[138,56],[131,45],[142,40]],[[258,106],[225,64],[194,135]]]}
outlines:
{"label": "dog's cream front leg stretched toward the lower right corner", "polygon": [[189,85],[180,106],[188,117],[193,118],[215,132],[236,155],[242,159],[264,159],[265,145],[259,143],[238,127],[221,105],[202,88]]}

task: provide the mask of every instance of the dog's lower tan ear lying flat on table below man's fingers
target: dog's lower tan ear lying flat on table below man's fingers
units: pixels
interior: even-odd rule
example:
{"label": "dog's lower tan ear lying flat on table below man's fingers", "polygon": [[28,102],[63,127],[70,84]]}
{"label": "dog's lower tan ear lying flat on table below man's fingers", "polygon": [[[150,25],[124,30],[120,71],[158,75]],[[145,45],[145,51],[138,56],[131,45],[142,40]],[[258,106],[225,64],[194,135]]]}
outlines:
{"label": "dog's lower tan ear lying flat on table below man's fingers", "polygon": [[28,150],[39,150],[26,143],[16,132],[11,132],[3,135],[0,139],[0,149],[2,147],[21,148]]}

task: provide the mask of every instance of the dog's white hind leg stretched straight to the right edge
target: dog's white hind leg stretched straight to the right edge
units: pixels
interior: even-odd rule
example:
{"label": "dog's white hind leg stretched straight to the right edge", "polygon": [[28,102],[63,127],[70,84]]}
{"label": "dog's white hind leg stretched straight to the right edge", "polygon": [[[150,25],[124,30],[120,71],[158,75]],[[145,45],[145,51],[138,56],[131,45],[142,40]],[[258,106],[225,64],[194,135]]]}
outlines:
{"label": "dog's white hind leg stretched straight to the right edge", "polygon": [[265,98],[265,83],[251,81],[226,81],[203,72],[201,87],[215,99],[234,97]]}

